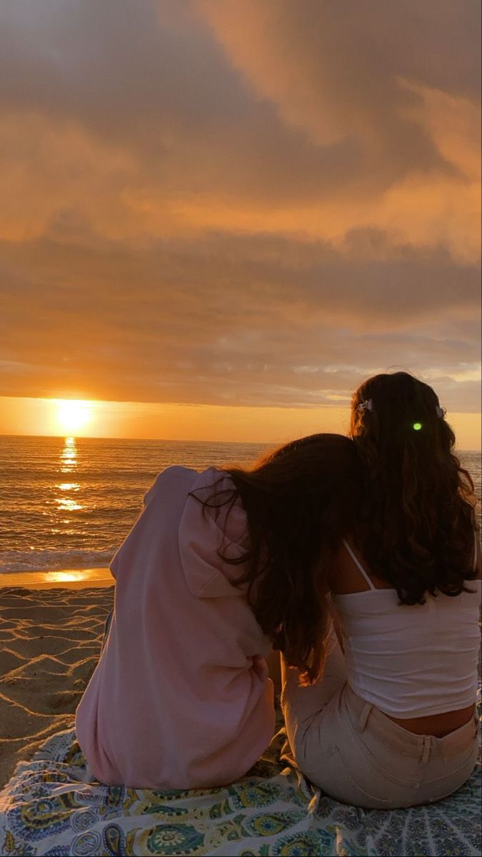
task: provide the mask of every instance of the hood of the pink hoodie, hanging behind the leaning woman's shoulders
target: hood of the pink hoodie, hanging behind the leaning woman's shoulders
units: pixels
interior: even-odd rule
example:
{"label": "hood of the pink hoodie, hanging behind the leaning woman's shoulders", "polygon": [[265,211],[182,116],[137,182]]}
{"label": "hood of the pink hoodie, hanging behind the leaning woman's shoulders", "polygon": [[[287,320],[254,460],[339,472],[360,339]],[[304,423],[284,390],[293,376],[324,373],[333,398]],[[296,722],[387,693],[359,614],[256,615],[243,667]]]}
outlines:
{"label": "hood of the pink hoodie, hanging behind the leaning woman's shoulders", "polygon": [[[232,491],[234,484],[222,470],[209,467],[196,478],[190,492],[200,500],[214,493],[217,501],[222,492]],[[229,559],[238,559],[249,547],[248,521],[239,497],[229,510],[228,502],[218,508],[205,508],[188,496],[179,524],[179,554],[184,577],[191,595],[196,598],[243,596],[244,588],[232,584],[245,570],[245,565],[231,566],[222,560],[220,551]]]}

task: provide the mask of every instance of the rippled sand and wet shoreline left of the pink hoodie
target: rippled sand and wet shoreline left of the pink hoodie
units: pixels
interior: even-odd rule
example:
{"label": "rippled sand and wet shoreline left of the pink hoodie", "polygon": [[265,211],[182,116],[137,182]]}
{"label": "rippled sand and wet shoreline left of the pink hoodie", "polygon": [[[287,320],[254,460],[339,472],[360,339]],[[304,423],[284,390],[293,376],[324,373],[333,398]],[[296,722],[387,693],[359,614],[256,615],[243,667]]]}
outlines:
{"label": "rippled sand and wet shoreline left of the pink hoodie", "polygon": [[0,788],[17,762],[31,758],[46,738],[73,722],[114,596],[107,569],[3,578]]}

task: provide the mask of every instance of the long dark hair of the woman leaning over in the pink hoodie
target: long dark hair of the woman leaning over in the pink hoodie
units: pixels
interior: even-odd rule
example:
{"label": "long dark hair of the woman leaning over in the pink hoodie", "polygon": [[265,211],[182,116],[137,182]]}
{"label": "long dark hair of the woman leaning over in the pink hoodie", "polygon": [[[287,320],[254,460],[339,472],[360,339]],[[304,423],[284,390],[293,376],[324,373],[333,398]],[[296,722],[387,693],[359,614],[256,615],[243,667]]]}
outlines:
{"label": "long dark hair of the woman leaning over in the pink hoodie", "polygon": [[355,445],[340,434],[293,440],[252,469],[223,469],[232,491],[215,491],[207,508],[239,497],[248,520],[249,547],[237,578],[262,631],[304,680],[322,671],[328,630],[328,577],[324,557],[353,527],[360,473]]}

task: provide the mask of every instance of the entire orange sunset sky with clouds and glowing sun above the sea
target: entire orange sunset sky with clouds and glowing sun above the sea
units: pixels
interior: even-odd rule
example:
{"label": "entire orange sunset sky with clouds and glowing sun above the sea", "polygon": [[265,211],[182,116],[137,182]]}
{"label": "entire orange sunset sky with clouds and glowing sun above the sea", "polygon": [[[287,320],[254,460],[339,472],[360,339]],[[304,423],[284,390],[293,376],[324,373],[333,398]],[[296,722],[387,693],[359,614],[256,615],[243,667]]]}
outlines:
{"label": "entire orange sunset sky with clouds and glowing sun above the sea", "polygon": [[479,448],[479,14],[2,0],[0,434],[344,432],[405,369]]}

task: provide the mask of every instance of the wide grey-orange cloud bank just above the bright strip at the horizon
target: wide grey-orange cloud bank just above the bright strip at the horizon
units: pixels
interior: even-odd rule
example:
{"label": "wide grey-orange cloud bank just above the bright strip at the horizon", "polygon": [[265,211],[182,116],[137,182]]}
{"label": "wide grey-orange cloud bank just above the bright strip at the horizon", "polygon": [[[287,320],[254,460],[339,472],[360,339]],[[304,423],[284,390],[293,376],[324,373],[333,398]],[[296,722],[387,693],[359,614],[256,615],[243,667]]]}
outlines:
{"label": "wide grey-orange cloud bank just above the bright strip at the horizon", "polygon": [[16,362],[5,394],[301,406],[333,403],[395,363],[470,381],[476,275],[447,255],[401,248],[387,260],[382,239],[378,261],[363,241],[336,251],[269,237],[149,250],[95,240],[88,252],[58,239],[3,244],[4,277],[16,272],[0,321]]}

